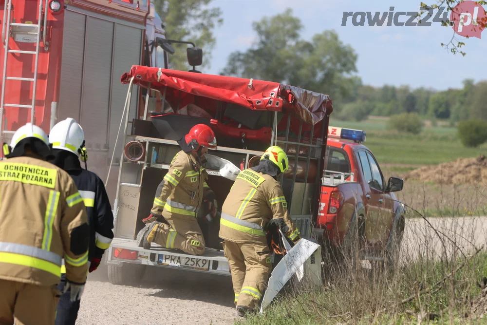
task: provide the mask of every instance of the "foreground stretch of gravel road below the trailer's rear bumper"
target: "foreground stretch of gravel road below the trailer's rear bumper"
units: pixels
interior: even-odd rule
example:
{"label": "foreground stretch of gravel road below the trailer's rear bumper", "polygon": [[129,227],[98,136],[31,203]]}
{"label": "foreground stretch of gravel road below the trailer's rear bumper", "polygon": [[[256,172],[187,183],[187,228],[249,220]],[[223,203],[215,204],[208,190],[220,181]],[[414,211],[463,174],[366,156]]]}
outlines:
{"label": "foreground stretch of gravel road below the trailer's rear bumper", "polygon": [[230,277],[149,267],[138,286],[114,286],[107,268],[88,277],[77,325],[232,324]]}

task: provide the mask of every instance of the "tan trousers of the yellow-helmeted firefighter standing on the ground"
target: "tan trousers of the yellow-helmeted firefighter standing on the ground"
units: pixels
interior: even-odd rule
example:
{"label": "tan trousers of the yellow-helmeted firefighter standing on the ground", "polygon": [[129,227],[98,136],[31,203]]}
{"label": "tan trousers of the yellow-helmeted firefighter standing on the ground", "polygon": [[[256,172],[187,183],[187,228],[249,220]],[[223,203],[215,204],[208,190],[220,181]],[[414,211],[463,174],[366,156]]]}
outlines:
{"label": "tan trousers of the yellow-helmeted firefighter standing on the ground", "polygon": [[230,264],[235,306],[258,308],[272,269],[267,243],[225,240],[222,244]]}

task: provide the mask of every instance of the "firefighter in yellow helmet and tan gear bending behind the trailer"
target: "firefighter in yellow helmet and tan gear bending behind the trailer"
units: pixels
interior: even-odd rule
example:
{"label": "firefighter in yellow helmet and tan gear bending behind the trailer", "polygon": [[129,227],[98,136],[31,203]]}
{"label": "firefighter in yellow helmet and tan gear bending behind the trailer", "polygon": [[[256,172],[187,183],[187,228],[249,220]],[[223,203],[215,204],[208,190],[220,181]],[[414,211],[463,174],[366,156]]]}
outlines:
{"label": "firefighter in yellow helmet and tan gear bending behind the trailer", "polygon": [[240,172],[223,204],[219,236],[224,239],[239,316],[256,310],[267,286],[272,263],[264,229],[269,222],[294,243],[300,240],[276,179],[288,168],[286,153],[278,146],[268,148],[258,166]]}

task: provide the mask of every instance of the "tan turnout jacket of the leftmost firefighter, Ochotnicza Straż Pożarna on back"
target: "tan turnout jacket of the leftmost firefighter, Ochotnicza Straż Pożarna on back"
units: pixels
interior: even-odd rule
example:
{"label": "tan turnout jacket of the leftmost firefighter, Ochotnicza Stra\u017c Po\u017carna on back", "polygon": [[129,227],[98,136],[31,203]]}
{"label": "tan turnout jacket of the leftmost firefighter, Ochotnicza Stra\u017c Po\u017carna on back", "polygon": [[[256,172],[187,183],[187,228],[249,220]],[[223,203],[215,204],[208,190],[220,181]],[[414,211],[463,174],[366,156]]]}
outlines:
{"label": "tan turnout jacket of the leftmost firefighter, Ochotnicza Stra\u017c Po\u017carna on back", "polygon": [[84,284],[89,226],[67,172],[22,156],[0,161],[0,279],[39,286],[66,278]]}

